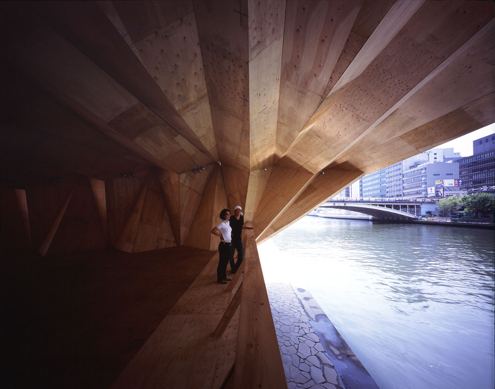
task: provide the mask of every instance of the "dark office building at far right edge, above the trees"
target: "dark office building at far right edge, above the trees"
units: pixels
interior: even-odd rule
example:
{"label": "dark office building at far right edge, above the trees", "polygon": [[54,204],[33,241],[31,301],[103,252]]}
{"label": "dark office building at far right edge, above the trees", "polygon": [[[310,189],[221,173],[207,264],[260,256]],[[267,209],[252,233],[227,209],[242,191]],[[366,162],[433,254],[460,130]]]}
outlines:
{"label": "dark office building at far right edge, above the trees", "polygon": [[459,159],[459,178],[467,193],[495,193],[495,135],[473,141],[474,155]]}

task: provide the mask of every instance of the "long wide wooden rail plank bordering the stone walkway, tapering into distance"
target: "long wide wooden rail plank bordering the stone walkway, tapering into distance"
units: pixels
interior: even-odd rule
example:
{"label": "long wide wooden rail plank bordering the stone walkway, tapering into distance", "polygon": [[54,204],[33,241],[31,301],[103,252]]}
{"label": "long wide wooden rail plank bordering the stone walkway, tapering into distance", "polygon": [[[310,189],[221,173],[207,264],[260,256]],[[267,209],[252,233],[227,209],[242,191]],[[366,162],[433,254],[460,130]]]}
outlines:
{"label": "long wide wooden rail plank bordering the stone walkway, tapering into distance", "polygon": [[246,252],[234,387],[287,388],[252,230],[247,231]]}

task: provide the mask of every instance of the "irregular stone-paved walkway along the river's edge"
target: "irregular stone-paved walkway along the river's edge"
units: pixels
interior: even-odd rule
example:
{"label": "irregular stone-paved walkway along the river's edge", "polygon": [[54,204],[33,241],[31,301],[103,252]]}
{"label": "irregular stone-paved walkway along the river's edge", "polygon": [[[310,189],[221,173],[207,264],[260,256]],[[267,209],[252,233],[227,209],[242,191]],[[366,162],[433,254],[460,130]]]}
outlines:
{"label": "irregular stone-paved walkway along the river's edge", "polygon": [[266,290],[289,389],[378,389],[309,292],[286,284]]}

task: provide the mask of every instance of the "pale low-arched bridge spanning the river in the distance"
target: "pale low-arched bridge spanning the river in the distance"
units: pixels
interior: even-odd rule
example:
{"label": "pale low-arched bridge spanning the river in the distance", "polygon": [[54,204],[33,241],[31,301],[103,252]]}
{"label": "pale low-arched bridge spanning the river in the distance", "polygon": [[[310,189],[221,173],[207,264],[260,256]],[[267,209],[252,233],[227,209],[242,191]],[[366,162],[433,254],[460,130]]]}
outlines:
{"label": "pale low-arched bridge spanning the river in the distance", "polygon": [[421,217],[421,201],[410,200],[379,200],[364,201],[363,199],[332,199],[320,208],[346,209],[371,215],[381,220],[414,220]]}

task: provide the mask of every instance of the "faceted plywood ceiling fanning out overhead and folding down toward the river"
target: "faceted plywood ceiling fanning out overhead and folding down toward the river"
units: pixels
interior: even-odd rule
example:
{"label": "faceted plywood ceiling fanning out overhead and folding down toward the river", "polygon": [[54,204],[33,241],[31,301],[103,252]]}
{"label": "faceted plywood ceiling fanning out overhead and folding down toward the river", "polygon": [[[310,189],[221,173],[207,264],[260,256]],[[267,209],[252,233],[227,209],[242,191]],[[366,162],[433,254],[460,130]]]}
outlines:
{"label": "faceted plywood ceiling fanning out overhead and folding down toward the river", "polygon": [[17,187],[220,161],[259,241],[363,173],[495,121],[493,1],[0,10],[1,173]]}

